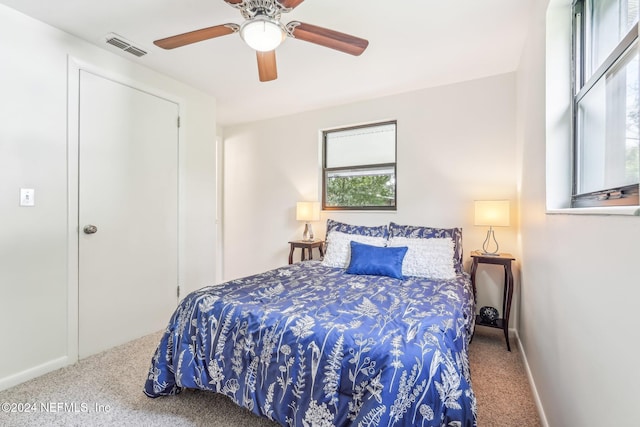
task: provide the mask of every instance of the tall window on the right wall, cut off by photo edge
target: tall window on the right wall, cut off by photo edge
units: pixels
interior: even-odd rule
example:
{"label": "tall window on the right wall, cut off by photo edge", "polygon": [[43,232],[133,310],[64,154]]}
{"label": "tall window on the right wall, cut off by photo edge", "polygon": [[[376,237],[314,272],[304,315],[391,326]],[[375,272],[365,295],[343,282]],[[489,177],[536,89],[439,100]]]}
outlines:
{"label": "tall window on the right wall, cut off by photo edge", "polygon": [[638,3],[574,3],[573,207],[638,205]]}

